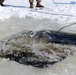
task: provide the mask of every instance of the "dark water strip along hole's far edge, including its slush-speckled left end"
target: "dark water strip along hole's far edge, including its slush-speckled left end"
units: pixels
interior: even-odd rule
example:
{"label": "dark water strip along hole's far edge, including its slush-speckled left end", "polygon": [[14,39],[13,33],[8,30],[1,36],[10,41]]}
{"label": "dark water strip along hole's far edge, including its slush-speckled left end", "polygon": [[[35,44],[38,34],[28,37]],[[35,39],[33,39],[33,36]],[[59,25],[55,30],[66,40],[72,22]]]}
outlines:
{"label": "dark water strip along hole's far edge, including its slush-speckled left end", "polygon": [[36,33],[39,38],[46,38],[51,43],[74,44],[76,45],[76,34],[69,34],[56,31],[40,31]]}

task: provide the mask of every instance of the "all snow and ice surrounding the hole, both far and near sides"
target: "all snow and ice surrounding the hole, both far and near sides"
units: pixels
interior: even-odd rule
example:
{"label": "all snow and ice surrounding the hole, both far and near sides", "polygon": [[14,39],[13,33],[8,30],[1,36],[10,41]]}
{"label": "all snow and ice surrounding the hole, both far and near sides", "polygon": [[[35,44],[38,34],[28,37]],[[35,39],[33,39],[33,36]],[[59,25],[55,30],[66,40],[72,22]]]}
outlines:
{"label": "all snow and ice surrounding the hole, both far and near sides", "polygon": [[[5,0],[6,7],[0,6],[0,40],[23,30],[59,30],[76,34],[75,0],[42,0],[44,9],[29,8],[28,0]],[[56,4],[59,3],[59,4]],[[76,54],[60,63],[44,69],[0,59],[0,75],[76,75]]]}

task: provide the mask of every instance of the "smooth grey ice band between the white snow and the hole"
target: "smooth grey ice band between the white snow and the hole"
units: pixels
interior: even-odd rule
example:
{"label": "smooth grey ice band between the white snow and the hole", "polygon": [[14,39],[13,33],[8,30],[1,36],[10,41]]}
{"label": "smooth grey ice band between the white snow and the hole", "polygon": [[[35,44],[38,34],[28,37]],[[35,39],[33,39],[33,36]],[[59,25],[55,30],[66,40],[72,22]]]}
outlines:
{"label": "smooth grey ice band between the white snow and the hole", "polygon": [[[60,28],[67,26],[49,19],[33,19],[33,18],[10,18],[0,21],[0,40],[17,34],[21,31],[40,31],[40,30],[54,30],[58,31]],[[76,24],[63,28],[61,31],[76,34]]]}

